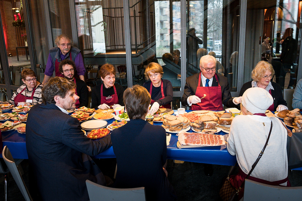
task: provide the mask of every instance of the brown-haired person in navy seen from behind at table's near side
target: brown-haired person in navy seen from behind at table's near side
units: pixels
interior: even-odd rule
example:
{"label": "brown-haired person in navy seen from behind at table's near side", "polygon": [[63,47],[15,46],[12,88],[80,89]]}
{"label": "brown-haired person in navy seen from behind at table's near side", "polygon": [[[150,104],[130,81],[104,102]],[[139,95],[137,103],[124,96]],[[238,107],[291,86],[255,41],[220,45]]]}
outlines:
{"label": "brown-haired person in navy seen from behind at table's near side", "polygon": [[111,132],[118,166],[114,187],[144,186],[147,200],[176,200],[163,167],[167,159],[166,131],[145,121],[151,102],[149,92],[134,85],[125,90],[124,102],[130,121]]}

